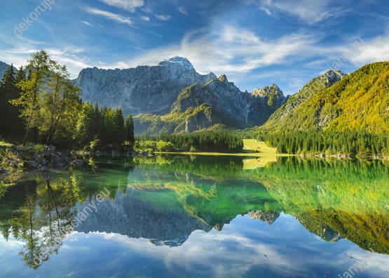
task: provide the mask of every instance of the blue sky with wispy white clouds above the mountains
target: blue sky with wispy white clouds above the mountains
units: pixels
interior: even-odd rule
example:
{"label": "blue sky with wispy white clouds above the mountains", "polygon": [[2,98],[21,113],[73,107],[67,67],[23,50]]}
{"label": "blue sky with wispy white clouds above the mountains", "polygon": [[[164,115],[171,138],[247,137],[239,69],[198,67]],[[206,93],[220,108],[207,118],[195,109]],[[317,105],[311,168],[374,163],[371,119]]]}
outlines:
{"label": "blue sky with wispy white clouds above the mountains", "polygon": [[383,0],[0,0],[0,60],[44,49],[72,78],[86,67],[157,65],[175,55],[242,91],[389,60]]}

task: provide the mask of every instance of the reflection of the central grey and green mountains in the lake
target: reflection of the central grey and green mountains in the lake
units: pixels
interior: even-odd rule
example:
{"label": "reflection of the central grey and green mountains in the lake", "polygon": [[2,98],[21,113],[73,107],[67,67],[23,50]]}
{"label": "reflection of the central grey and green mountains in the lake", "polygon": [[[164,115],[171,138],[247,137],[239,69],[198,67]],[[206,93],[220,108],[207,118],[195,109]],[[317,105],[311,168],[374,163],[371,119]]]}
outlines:
{"label": "reflection of the central grey and green mountains in the lake", "polygon": [[[247,212],[265,216],[266,210],[282,210],[265,187],[250,181],[217,183],[189,172],[135,168],[128,175],[128,187],[125,193],[117,192],[114,199],[100,204],[98,212],[90,214],[76,230],[114,232],[149,239],[156,245],[179,246],[195,230],[221,230]],[[263,220],[275,216],[278,212],[271,211]]]}

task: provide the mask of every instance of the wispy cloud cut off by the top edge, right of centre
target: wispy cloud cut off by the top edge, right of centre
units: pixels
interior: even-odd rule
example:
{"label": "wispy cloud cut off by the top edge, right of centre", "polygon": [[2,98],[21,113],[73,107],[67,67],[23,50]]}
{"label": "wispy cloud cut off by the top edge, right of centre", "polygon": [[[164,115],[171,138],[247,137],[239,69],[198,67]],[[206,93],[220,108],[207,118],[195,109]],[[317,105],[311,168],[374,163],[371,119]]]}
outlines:
{"label": "wispy cloud cut off by the top edge, right of centre", "polygon": [[315,24],[340,13],[346,13],[335,0],[264,0],[259,4],[268,15],[281,12],[295,16],[308,24]]}

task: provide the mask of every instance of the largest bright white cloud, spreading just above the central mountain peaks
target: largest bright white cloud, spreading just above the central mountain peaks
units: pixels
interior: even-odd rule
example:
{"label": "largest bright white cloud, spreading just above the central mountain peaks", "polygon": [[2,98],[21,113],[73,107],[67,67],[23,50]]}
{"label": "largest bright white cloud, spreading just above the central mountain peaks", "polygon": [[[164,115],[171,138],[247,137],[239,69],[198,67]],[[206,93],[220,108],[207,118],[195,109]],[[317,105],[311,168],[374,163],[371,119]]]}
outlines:
{"label": "largest bright white cloud, spreading just above the central mountain peaks", "polygon": [[318,55],[318,39],[306,34],[290,34],[268,41],[238,27],[225,26],[214,32],[201,29],[187,34],[181,44],[144,52],[128,61],[129,67],[154,65],[165,58],[188,58],[200,73],[243,74],[269,65],[305,60]]}

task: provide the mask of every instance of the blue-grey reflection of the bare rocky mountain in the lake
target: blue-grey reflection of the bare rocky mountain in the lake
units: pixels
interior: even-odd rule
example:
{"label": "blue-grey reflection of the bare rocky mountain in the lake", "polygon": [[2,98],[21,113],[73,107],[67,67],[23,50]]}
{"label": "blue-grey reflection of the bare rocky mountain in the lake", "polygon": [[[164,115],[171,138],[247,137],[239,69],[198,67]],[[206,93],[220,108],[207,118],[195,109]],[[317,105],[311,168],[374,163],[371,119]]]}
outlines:
{"label": "blue-grey reflection of the bare rocky mountain in the lake", "polygon": [[[76,230],[123,234],[166,246],[182,245],[195,230],[212,230],[211,226],[189,216],[184,209],[157,209],[137,198],[136,194],[136,190],[128,190],[126,194],[118,192],[114,200],[100,203],[98,212],[90,213]],[[88,204],[83,204],[85,206]],[[80,207],[79,211],[82,209]]]}

